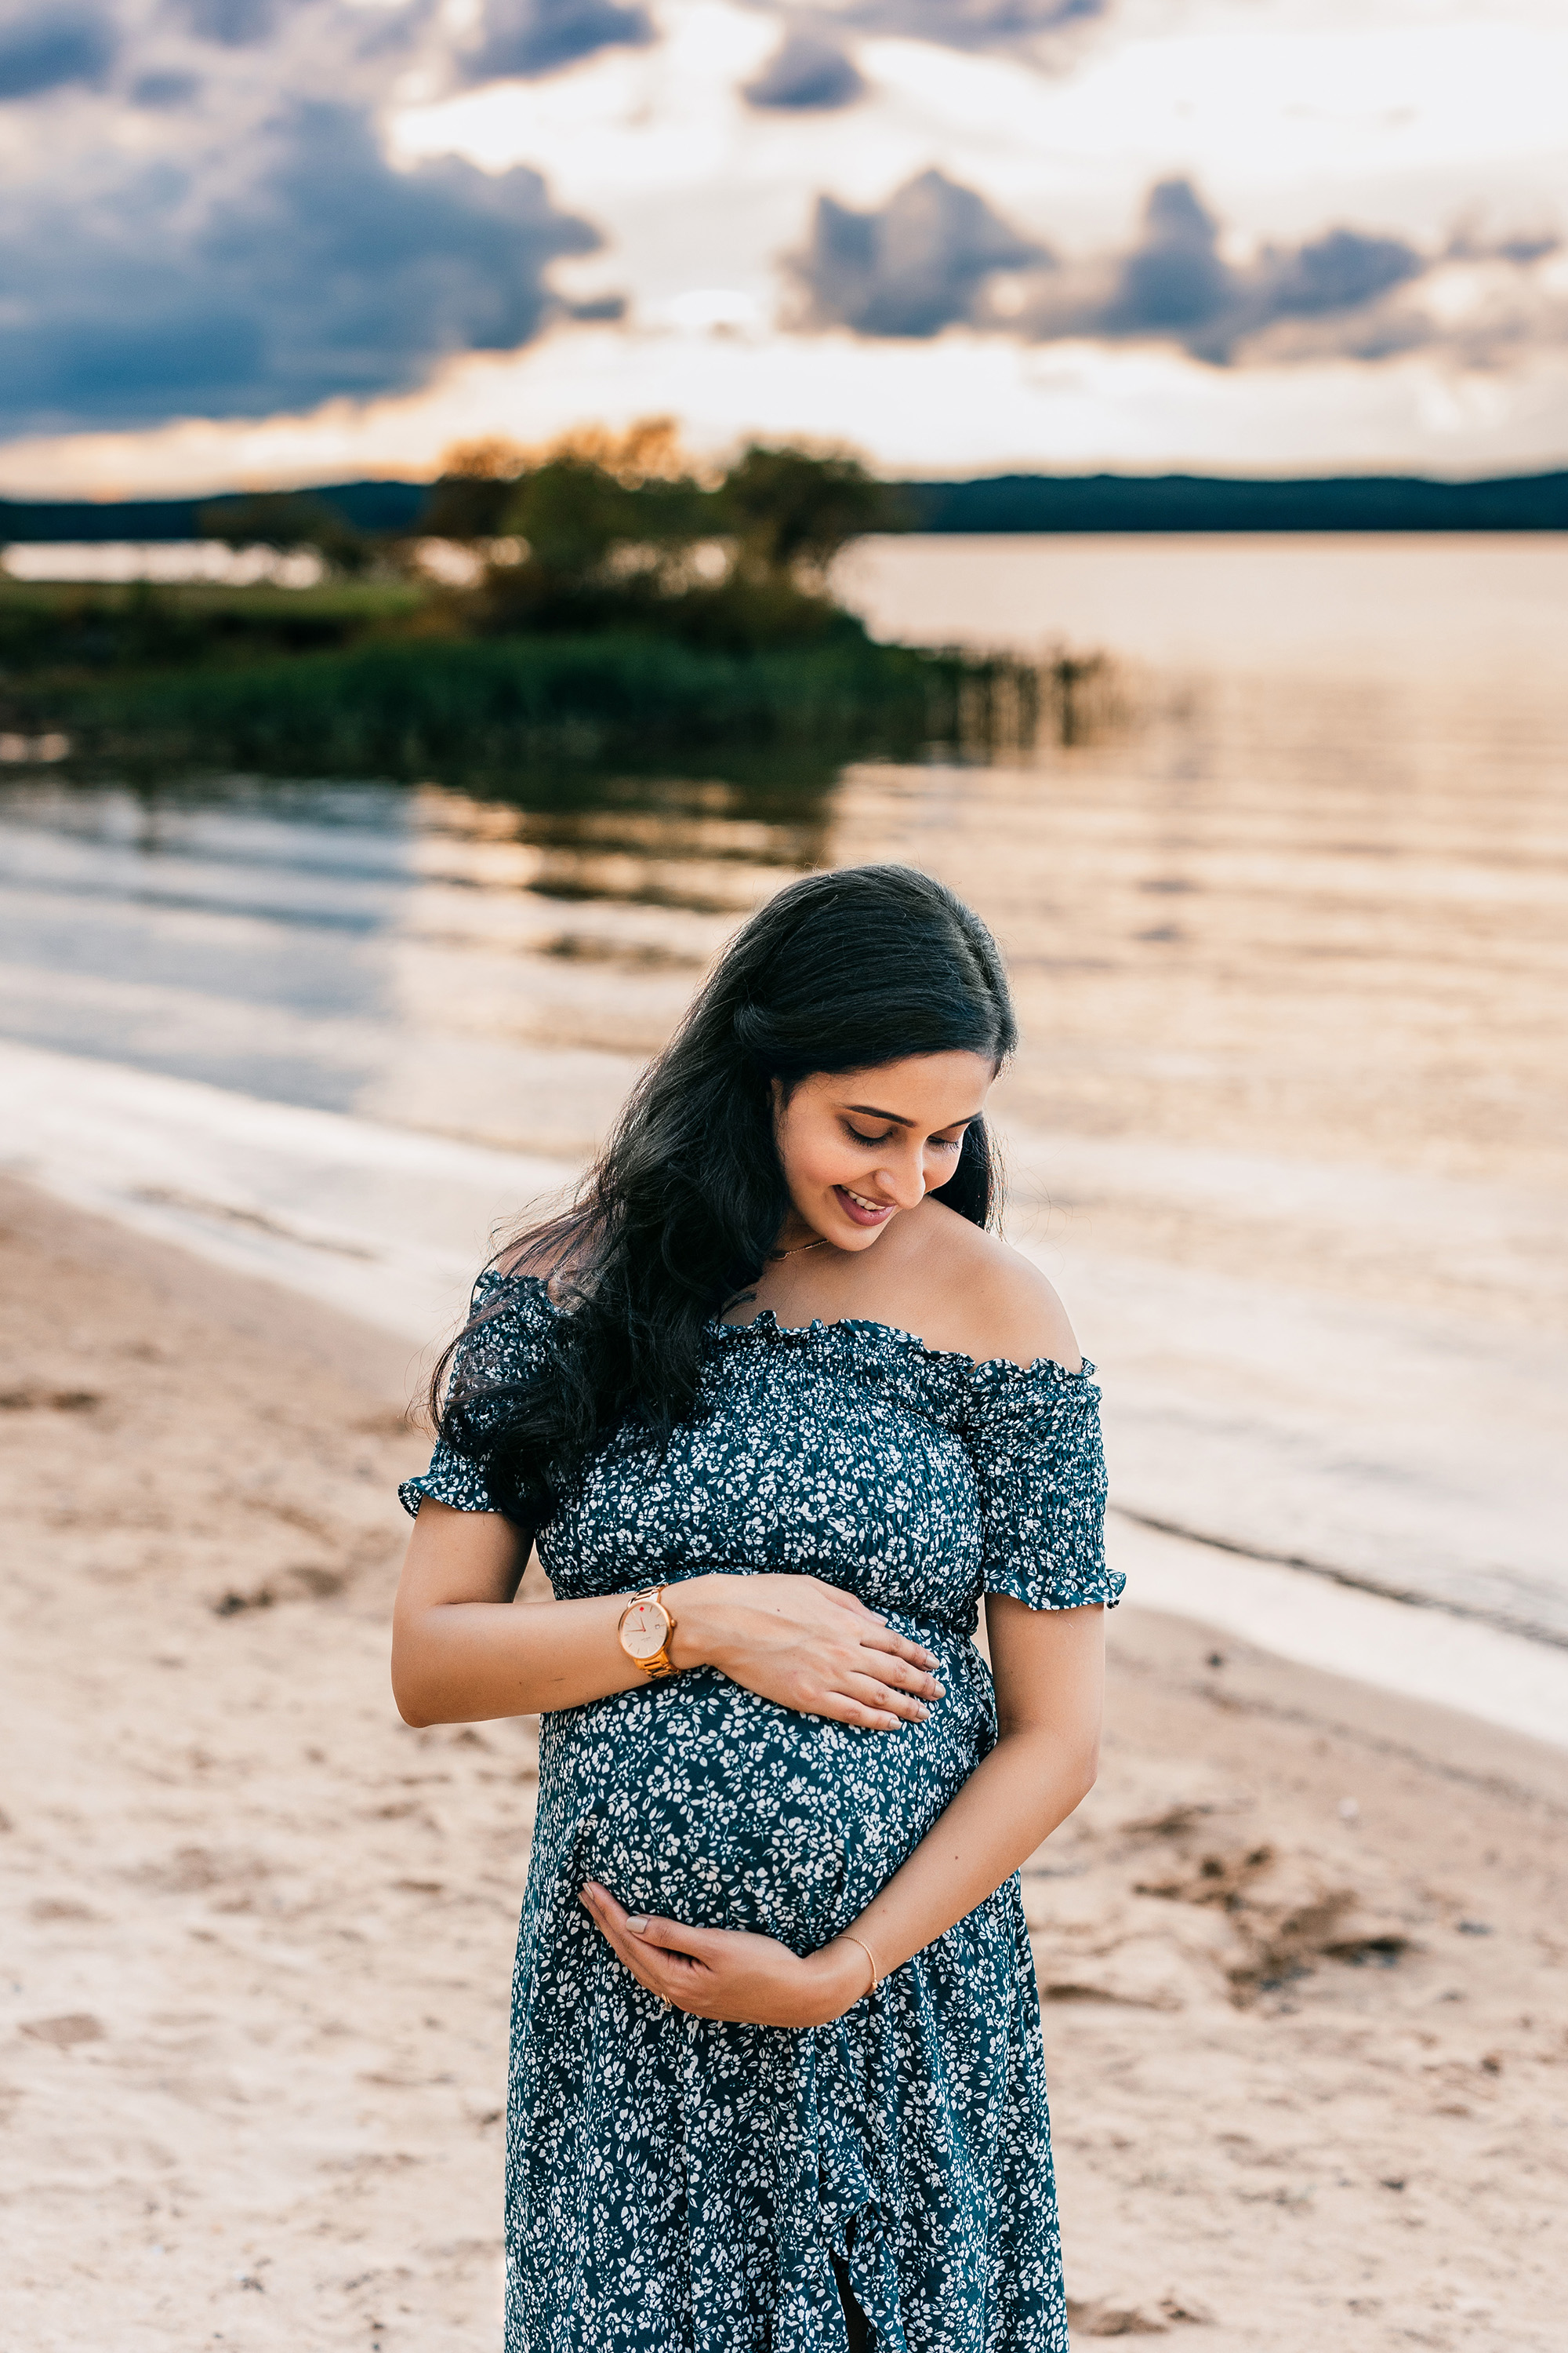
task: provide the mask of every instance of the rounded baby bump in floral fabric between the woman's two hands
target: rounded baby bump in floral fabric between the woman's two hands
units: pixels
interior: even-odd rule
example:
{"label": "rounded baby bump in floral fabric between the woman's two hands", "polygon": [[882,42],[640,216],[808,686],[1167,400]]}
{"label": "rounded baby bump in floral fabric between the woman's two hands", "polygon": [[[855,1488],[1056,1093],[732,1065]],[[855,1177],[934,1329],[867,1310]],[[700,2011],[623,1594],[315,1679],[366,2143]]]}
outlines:
{"label": "rounded baby bump in floral fabric between the woman's two hands", "polygon": [[628,1911],[813,1951],[898,1871],[990,1739],[985,1668],[950,1640],[969,1661],[943,1657],[947,1697],[900,1732],[799,1715],[717,1668],[548,1715],[541,1819],[569,1845],[559,1866]]}

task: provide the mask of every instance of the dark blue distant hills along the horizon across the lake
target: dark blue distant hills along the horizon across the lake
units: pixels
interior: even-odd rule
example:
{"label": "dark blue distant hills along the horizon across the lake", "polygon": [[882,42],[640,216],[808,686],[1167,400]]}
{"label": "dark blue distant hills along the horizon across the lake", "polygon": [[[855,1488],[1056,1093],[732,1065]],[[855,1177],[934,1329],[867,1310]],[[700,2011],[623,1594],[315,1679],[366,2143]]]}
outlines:
{"label": "dark blue distant hills along the horizon across the lake", "polygon": [[[914,532],[1568,532],[1568,473],[1429,482],[1356,473],[1269,482],[1201,473],[999,473],[900,482]],[[237,492],[233,494],[237,501]],[[310,496],[360,532],[411,532],[423,482],[331,482]],[[5,541],[200,539],[223,499],[0,499]]]}

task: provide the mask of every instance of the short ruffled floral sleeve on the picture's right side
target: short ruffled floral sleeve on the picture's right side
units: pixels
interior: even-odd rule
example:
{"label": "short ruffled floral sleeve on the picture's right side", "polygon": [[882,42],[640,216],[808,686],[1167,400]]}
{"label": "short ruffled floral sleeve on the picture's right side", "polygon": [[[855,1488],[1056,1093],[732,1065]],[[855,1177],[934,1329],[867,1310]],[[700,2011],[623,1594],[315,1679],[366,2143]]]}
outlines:
{"label": "short ruffled floral sleeve on the picture's right side", "polygon": [[983,1586],[1030,1609],[1114,1607],[1093,1365],[976,1365],[966,1431],[980,1489]]}

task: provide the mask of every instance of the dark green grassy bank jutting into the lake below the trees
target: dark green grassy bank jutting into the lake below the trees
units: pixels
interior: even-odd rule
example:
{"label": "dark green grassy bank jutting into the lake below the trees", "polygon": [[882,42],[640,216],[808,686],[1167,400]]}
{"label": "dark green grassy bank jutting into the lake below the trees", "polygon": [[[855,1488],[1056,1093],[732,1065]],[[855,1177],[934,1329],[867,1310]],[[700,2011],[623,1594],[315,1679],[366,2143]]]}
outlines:
{"label": "dark green grassy bank jutting into the lake below the trees", "polygon": [[461,635],[451,621],[402,586],[12,588],[0,725],[61,729],[82,758],[313,774],[719,744],[910,755],[985,732],[1009,668],[877,645],[849,616],[773,647],[646,628]]}

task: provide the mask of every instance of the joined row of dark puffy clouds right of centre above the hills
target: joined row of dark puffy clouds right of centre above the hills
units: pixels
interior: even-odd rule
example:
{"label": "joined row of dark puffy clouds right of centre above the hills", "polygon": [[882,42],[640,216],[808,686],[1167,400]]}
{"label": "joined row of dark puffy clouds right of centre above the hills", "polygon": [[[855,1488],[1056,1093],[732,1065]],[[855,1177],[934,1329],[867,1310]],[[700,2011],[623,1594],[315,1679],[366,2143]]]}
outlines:
{"label": "joined row of dark puffy clouds right of centre above the hills", "polygon": [[[1540,259],[1516,240],[1486,259]],[[924,172],[879,212],[818,198],[806,252],[790,264],[804,325],[858,334],[940,334],[971,325],[1025,341],[1166,341],[1199,360],[1382,358],[1434,329],[1403,301],[1441,254],[1403,238],[1328,228],[1227,261],[1222,224],[1192,181],[1159,181],[1124,252],[1065,261],[1011,228],[969,188]]]}

